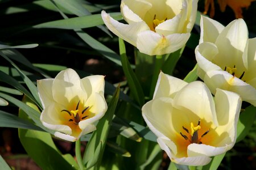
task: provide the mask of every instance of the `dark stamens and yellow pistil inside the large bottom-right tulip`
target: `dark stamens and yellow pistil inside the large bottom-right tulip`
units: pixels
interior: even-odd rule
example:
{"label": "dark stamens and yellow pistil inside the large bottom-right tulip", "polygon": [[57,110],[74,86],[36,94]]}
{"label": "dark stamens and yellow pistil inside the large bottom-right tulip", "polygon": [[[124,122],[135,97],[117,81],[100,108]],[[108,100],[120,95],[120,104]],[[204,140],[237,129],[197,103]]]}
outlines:
{"label": "dark stamens and yellow pistil inside the large bottom-right tulip", "polygon": [[201,135],[201,138],[198,137],[198,131],[199,129],[201,129],[200,126],[200,120],[198,121],[197,126],[194,126],[193,122],[190,123],[190,129],[191,129],[191,133],[189,133],[188,129],[185,128],[184,126],[182,126],[182,128],[188,133],[189,138],[187,137],[187,135],[184,135],[180,132],[180,135],[185,139],[185,140],[189,140],[190,143],[197,143],[197,144],[201,144],[201,138],[204,137],[204,135],[208,134],[210,130],[205,131],[205,133],[203,135]]}

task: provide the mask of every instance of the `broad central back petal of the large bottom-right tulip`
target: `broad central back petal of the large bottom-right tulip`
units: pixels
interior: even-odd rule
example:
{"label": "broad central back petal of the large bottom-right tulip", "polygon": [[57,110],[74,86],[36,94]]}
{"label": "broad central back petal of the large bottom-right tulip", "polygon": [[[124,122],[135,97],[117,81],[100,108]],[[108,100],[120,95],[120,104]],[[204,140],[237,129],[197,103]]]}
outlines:
{"label": "broad central back petal of the large bottom-right tulip", "polygon": [[218,125],[212,94],[203,82],[192,82],[182,88],[175,95],[173,105],[180,110],[188,109],[199,118]]}

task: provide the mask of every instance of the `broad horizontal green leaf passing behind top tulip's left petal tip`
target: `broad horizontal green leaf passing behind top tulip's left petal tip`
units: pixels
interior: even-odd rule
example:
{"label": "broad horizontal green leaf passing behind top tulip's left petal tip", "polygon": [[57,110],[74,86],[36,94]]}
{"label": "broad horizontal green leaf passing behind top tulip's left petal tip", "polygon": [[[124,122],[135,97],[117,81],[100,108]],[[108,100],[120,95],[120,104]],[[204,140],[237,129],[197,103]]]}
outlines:
{"label": "broad horizontal green leaf passing behind top tulip's left petal tip", "polygon": [[[110,13],[115,20],[121,20],[122,15],[120,12]],[[90,28],[97,25],[104,24],[101,14],[86,15],[69,19],[55,20],[52,22],[46,22],[38,25],[34,25],[34,28],[59,28],[59,29],[81,29]],[[1,46],[0,46],[1,47]]]}

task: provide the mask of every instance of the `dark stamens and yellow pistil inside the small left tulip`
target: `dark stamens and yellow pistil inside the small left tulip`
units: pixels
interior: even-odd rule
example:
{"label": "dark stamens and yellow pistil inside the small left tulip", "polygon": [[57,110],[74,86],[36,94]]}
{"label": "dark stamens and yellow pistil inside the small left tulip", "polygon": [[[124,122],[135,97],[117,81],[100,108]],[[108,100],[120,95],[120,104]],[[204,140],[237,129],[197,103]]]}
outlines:
{"label": "dark stamens and yellow pistil inside the small left tulip", "polygon": [[80,101],[77,103],[75,111],[68,111],[65,109],[61,111],[67,112],[70,116],[68,122],[73,122],[76,125],[78,125],[81,120],[84,120],[86,117],[88,117],[88,115],[84,115],[84,113],[88,110],[89,107],[86,107],[84,110],[82,110],[82,112],[79,112],[79,103]]}

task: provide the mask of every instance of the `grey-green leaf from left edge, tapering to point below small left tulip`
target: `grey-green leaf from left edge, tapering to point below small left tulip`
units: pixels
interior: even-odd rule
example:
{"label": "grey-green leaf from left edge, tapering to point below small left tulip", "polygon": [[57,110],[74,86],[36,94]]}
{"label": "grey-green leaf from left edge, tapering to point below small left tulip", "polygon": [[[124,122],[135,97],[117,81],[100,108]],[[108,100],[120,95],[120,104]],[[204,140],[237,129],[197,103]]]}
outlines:
{"label": "grey-green leaf from left edge, tapering to point below small left tulip", "polygon": [[43,130],[38,126],[31,124],[29,121],[4,111],[0,111],[0,127]]}

